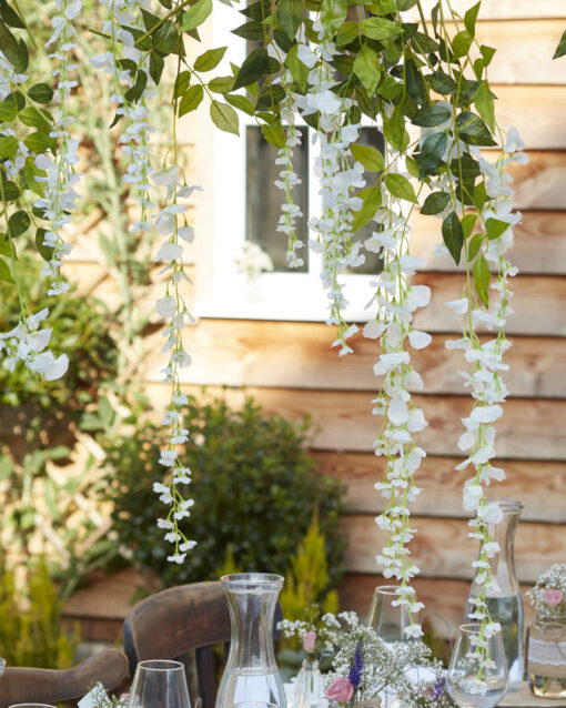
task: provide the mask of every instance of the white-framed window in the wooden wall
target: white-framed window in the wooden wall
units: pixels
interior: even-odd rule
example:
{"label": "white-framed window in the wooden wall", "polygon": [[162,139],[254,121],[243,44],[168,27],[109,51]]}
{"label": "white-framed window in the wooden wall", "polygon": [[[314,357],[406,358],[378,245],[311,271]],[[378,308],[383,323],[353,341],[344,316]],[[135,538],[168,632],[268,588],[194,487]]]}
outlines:
{"label": "white-framed window in the wooden wall", "polygon": [[[214,45],[228,45],[229,52],[232,51],[230,60],[241,63],[245,43],[235,40],[230,30],[241,24],[242,16],[224,4],[218,9]],[[275,164],[276,149],[263,139],[253,118],[240,114],[240,138],[213,133],[212,178],[205,185],[212,191],[213,243],[209,244],[211,263],[204,270],[206,283],[201,289],[205,296],[196,312],[201,316],[324,321],[327,300],[320,279],[322,256],[301,249],[299,255],[304,265],[290,269],[285,259],[286,237],[276,231],[284,200],[284,193],[274,185],[281,170]],[[304,214],[297,236],[306,243],[307,219],[320,213],[322,201],[313,173],[312,130],[305,124],[300,130],[302,144],[294,149],[293,163],[302,184],[295,186],[294,199]],[[383,136],[375,127],[364,127],[358,142],[383,151]],[[365,240],[372,230],[375,224],[362,229],[356,240]],[[255,283],[237,273],[234,263],[245,240],[261,245],[274,264],[273,272],[263,273]],[[344,273],[341,277],[351,303],[344,313],[350,321],[364,321],[372,314],[364,306],[373,294],[370,282],[381,271],[381,260],[368,252],[365,259],[355,274]]]}

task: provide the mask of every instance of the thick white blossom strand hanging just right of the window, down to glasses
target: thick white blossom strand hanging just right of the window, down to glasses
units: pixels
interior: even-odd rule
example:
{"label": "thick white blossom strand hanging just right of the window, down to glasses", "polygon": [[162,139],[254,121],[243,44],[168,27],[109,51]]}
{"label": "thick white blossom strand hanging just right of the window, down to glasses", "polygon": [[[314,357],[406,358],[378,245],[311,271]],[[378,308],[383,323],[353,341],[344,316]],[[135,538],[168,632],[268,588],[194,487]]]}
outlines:
{"label": "thick white blossom strand hanging just right of the window, down to glasses", "polygon": [[374,415],[384,417],[378,438],[374,442],[375,455],[386,459],[383,481],[375,488],[388,500],[387,508],[375,520],[387,532],[387,543],[376,557],[383,567],[383,576],[396,578],[401,585],[396,605],[405,605],[411,616],[407,636],[420,637],[422,629],[413,615],[423,608],[411,587],[411,579],[418,573],[410,557],[407,544],[415,529],[411,527],[408,503],[421,493],[414,481],[425,451],[414,441],[427,423],[424,413],[412,402],[411,390],[422,390],[423,381],[411,363],[411,348],[422,350],[432,337],[415,330],[413,313],[431,300],[426,285],[412,285],[411,276],[424,261],[408,252],[408,226],[396,200],[390,208],[380,210],[376,231],[366,239],[368,251],[381,253],[383,271],[376,286],[375,301],[378,311],[375,320],[364,327],[364,336],[380,338],[380,360],[374,366],[376,376],[383,376],[377,397],[373,401]]}

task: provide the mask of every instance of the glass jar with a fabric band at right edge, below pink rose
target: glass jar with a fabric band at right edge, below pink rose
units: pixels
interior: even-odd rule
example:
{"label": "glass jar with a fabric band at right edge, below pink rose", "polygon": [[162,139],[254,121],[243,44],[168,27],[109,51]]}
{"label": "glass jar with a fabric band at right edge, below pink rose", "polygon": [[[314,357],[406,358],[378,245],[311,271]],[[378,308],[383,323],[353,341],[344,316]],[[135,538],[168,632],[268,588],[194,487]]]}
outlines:
{"label": "glass jar with a fabric band at right edge, below pink rose", "polygon": [[566,698],[566,615],[537,615],[528,630],[528,685],[535,696]]}

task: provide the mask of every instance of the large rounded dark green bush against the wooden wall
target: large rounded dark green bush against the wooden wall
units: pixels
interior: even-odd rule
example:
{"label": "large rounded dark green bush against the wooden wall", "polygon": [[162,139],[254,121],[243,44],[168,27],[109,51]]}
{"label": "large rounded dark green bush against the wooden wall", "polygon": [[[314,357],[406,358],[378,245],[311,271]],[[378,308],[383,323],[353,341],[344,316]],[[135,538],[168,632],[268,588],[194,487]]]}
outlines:
{"label": "large rounded dark green bush against the wooden wall", "polygon": [[343,574],[337,528],[343,487],[320,475],[304,449],[306,421],[296,425],[264,415],[252,399],[236,411],[222,401],[199,405],[191,398],[184,413],[192,436],[183,456],[196,500],[186,530],[199,543],[181,566],[168,563],[169,544],[155,525],[164,510],[152,490],[163,476],[156,464],[162,429],[145,424],[104,443],[114,529],[135,564],[152,568],[165,584],[213,579],[231,546],[239,568],[285,574],[317,510],[327,585],[335,587]]}

